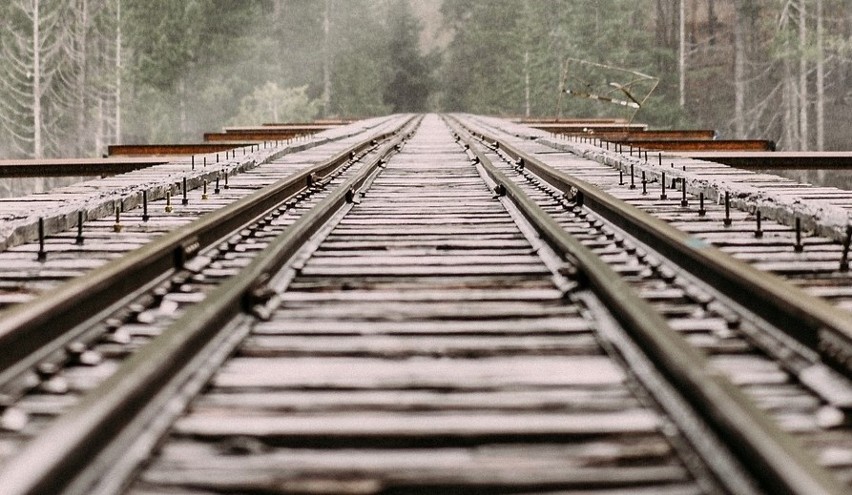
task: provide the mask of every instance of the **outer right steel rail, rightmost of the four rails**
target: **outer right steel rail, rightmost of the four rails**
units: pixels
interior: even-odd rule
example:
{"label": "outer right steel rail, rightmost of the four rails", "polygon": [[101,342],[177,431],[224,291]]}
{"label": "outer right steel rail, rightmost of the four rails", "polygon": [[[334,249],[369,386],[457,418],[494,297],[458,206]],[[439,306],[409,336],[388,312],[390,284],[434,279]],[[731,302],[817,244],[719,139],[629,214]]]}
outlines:
{"label": "outer right steel rail, rightmost of the four rails", "polygon": [[[480,133],[482,134],[482,133]],[[818,352],[825,362],[852,376],[852,316],[811,296],[771,273],[734,259],[709,243],[690,236],[663,220],[606,194],[599,188],[559,171],[520,149],[483,134],[515,160],[562,191],[574,190],[583,204],[630,232],[661,255],[678,260],[684,270],[723,294],[743,295],[737,301],[801,344]],[[747,297],[745,297],[747,295]],[[841,407],[852,407],[848,398]]]}

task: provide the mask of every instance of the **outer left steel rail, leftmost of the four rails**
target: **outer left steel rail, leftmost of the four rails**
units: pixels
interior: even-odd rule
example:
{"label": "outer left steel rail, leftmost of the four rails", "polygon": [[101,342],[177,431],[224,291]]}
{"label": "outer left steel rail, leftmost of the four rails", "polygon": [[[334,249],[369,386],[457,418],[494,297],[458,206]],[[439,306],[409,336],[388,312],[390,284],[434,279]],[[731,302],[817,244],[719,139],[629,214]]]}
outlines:
{"label": "outer left steel rail, leftmost of the four rails", "polygon": [[[394,131],[395,132],[395,131]],[[0,386],[84,333],[83,323],[158,282],[204,248],[267,214],[351,157],[393,132],[370,136],[331,158],[200,217],[35,300],[0,312]],[[74,330],[77,329],[77,330]]]}

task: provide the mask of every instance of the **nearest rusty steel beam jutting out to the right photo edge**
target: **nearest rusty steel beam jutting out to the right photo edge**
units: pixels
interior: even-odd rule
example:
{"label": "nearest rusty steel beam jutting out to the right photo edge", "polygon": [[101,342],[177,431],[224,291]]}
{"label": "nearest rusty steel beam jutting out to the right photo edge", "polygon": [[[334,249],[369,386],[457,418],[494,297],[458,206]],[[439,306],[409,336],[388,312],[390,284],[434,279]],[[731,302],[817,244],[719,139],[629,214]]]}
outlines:
{"label": "nearest rusty steel beam jutting out to the right photo edge", "polygon": [[677,152],[674,156],[722,163],[747,170],[849,170],[850,151],[697,151]]}

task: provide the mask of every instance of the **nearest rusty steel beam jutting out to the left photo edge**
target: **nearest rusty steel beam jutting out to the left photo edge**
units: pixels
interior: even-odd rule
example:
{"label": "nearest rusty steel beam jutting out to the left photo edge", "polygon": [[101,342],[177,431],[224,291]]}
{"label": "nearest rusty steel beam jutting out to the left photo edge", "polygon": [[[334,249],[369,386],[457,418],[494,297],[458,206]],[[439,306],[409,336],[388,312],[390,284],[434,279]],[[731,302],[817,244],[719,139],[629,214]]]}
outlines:
{"label": "nearest rusty steel beam jutting out to the left photo edge", "polygon": [[114,175],[138,170],[168,160],[150,158],[66,158],[0,160],[0,177],[83,177]]}

